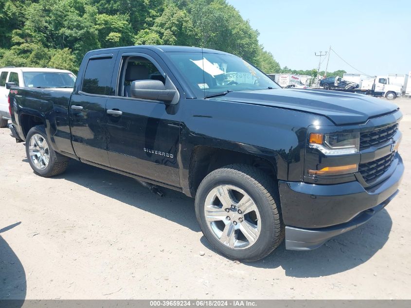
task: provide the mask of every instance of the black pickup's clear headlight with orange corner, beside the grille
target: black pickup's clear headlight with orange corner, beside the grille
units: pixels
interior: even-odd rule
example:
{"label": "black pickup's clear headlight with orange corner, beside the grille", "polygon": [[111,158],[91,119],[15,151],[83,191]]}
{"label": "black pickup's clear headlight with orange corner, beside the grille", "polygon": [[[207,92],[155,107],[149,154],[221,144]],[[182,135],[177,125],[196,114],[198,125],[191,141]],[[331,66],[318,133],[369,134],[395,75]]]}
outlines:
{"label": "black pickup's clear headlight with orange corner, beside the grille", "polygon": [[325,155],[355,154],[359,151],[359,133],[311,133],[310,147]]}

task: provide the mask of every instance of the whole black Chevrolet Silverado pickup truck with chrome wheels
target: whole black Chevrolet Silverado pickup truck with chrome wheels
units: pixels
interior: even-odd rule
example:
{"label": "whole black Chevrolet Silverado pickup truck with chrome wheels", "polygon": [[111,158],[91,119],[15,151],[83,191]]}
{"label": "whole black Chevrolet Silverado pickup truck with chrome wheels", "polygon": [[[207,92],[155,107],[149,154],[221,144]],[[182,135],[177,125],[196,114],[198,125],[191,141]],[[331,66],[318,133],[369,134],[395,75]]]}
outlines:
{"label": "whole black Chevrolet Silverado pickup truck with chrome wheels", "polygon": [[72,93],[12,88],[12,124],[34,172],[75,159],[195,197],[222,254],[257,260],[286,240],[311,250],[398,193],[397,106],[281,89],[247,61],[194,47],[87,53]]}

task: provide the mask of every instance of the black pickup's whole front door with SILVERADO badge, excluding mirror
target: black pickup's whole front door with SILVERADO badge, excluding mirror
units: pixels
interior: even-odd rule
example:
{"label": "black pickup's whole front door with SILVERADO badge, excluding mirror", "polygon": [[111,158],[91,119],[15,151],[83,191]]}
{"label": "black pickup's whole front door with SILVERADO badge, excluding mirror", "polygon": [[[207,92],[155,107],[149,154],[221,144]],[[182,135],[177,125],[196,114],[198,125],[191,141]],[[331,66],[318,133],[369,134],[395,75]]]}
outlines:
{"label": "black pickup's whole front door with SILVERADO badge, excluding mirror", "polygon": [[179,105],[131,97],[135,80],[156,79],[174,86],[153,57],[126,51],[118,56],[117,92],[106,105],[108,157],[113,168],[179,186]]}

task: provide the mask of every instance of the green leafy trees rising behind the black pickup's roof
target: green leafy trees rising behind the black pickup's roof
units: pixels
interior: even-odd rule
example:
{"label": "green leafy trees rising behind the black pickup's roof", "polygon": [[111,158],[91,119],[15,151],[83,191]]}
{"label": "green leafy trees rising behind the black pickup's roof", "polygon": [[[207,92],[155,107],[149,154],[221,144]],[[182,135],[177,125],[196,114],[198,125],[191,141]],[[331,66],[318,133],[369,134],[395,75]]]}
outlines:
{"label": "green leafy trees rising behind the black pickup's roof", "polygon": [[77,72],[89,50],[164,44],[236,54],[266,73],[288,71],[258,36],[226,0],[0,0],[0,66]]}

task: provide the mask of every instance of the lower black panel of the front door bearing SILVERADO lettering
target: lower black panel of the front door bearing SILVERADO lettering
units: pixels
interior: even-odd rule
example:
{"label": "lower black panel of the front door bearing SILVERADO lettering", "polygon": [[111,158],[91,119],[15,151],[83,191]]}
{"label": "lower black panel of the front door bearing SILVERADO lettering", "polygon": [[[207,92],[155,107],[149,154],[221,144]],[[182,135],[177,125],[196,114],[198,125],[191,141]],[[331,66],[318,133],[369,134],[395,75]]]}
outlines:
{"label": "lower black panel of the front door bearing SILVERADO lettering", "polygon": [[179,121],[175,106],[110,97],[107,110],[107,150],[110,164],[157,181],[179,186]]}

